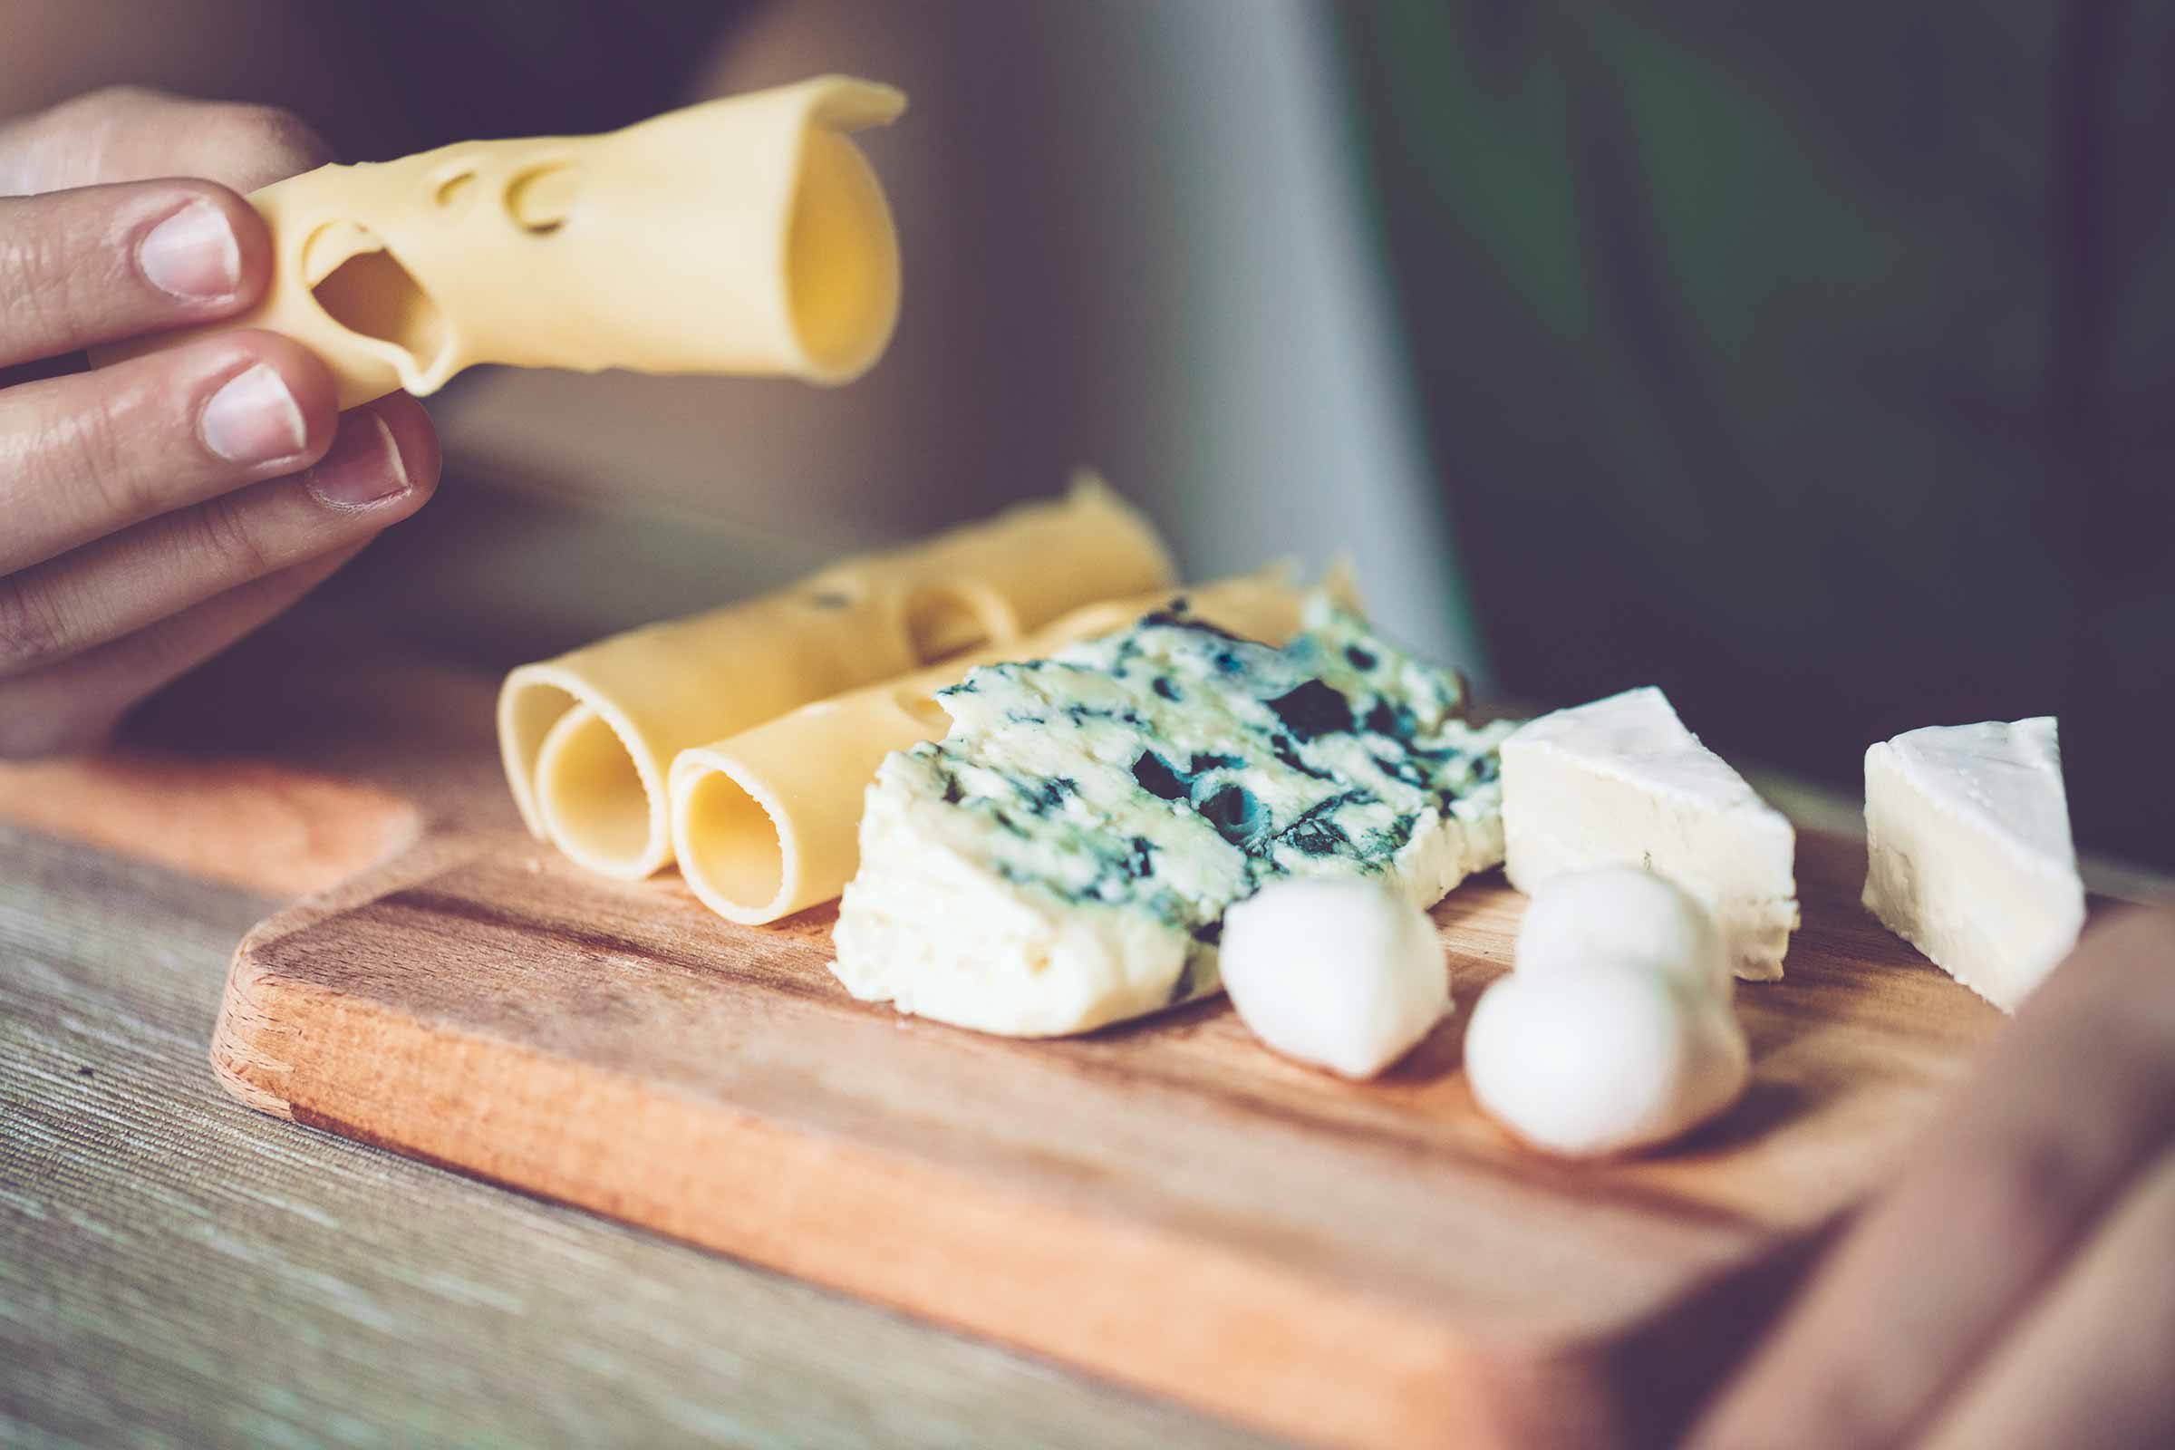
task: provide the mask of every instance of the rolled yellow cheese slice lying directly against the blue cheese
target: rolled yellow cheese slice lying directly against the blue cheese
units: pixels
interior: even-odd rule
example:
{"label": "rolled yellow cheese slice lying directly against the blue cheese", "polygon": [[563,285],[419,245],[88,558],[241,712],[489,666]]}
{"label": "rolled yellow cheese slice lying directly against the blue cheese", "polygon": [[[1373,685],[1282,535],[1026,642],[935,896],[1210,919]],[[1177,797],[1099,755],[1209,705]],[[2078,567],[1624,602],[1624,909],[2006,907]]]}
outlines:
{"label": "rolled yellow cheese slice lying directly against the blue cheese", "polygon": [[[1333,593],[1348,596],[1338,574]],[[1177,600],[1218,628],[1285,643],[1298,633],[1301,587],[1290,567],[1077,609],[1009,646],[959,654],[933,670],[805,704],[672,761],[672,852],[694,893],[722,917],[761,926],[826,902],[861,865],[861,798],[894,750],[942,739],[935,691],[974,665],[1040,659],[1127,628]]]}

